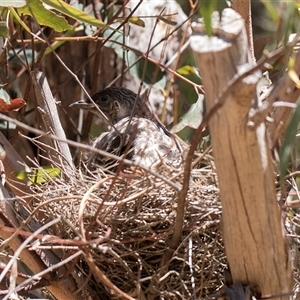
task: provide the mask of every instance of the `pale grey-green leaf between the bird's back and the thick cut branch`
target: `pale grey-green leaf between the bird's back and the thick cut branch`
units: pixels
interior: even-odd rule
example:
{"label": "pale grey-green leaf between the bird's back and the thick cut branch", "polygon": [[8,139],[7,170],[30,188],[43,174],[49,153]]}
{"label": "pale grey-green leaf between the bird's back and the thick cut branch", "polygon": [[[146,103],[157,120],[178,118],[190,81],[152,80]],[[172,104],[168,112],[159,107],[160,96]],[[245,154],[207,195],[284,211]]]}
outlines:
{"label": "pale grey-green leaf between the bird's back and the thick cut branch", "polygon": [[197,102],[191,105],[188,112],[179,119],[179,122],[176,125],[173,126],[171,132],[177,133],[186,126],[194,129],[198,128],[203,119],[203,103],[204,95],[199,94]]}

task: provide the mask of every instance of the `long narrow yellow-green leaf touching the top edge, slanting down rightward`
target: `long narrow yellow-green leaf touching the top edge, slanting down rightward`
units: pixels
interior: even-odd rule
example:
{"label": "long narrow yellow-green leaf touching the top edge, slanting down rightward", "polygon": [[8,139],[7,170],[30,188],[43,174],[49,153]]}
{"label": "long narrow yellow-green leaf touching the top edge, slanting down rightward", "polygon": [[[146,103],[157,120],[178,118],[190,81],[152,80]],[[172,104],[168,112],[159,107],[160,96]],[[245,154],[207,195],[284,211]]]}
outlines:
{"label": "long narrow yellow-green leaf touching the top edge, slanting down rightward", "polygon": [[83,23],[87,23],[92,26],[96,26],[97,28],[107,28],[108,26],[101,22],[100,20],[86,14],[82,10],[79,10],[71,5],[65,3],[61,0],[43,0],[43,2],[55,10],[59,11],[60,13],[76,20],[81,21]]}

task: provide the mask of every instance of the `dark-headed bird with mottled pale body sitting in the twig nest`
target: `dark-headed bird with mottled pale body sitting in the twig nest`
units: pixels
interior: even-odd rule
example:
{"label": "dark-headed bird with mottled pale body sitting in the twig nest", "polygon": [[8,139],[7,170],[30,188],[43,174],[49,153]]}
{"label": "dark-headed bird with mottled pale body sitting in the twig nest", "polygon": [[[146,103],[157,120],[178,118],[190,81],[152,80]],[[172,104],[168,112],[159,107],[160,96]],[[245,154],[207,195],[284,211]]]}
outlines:
{"label": "dark-headed bird with mottled pale body sitting in the twig nest", "polygon": [[[89,110],[102,118],[104,114],[110,122],[110,131],[102,133],[93,147],[150,169],[161,164],[176,169],[180,167],[183,159],[181,146],[136,93],[123,87],[109,87],[91,98],[98,107],[89,99],[72,103],[70,107]],[[92,153],[88,165],[92,169],[95,165],[113,169],[118,162]]]}

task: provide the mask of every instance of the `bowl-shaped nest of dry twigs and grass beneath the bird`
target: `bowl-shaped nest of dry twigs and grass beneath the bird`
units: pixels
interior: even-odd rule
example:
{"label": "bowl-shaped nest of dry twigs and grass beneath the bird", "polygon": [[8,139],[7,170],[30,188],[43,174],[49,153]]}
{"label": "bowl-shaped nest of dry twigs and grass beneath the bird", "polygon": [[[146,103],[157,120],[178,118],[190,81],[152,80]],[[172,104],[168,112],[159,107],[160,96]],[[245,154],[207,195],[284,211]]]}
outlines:
{"label": "bowl-shaped nest of dry twigs and grass beneath the bird", "polygon": [[[136,299],[203,299],[218,292],[226,258],[210,163],[192,172],[175,249],[169,245],[178,233],[182,174],[170,170],[159,176],[138,170],[126,176],[76,174],[68,183],[52,179],[34,186],[37,197],[31,210],[35,208],[34,216],[43,224],[59,218],[48,233],[60,241],[74,241],[72,247],[62,245],[65,256],[74,249],[83,251],[72,265],[81,278],[82,295],[120,299],[116,292],[120,290]],[[166,260],[170,251],[171,259]],[[113,288],[96,273],[105,275]]]}

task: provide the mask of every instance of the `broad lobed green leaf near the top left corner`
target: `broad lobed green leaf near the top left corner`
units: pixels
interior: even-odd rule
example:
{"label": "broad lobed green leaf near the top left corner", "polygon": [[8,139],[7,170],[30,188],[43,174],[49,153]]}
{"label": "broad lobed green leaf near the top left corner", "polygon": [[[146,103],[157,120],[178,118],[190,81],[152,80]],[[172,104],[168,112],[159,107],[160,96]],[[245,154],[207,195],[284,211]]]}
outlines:
{"label": "broad lobed green leaf near the top left corner", "polygon": [[53,28],[57,32],[73,28],[64,17],[46,9],[40,0],[27,0],[27,5],[19,8],[18,13],[34,17],[40,25]]}

